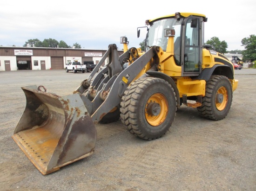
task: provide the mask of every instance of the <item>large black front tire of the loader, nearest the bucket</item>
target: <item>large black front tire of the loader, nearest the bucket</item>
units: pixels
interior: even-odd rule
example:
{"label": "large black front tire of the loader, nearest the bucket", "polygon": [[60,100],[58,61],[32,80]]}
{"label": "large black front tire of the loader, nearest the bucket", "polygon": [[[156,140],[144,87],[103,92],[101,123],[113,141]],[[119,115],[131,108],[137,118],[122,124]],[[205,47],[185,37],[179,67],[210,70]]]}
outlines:
{"label": "large black front tire of the loader, nearest the bucket", "polygon": [[[159,115],[164,114],[166,117],[159,124],[157,122],[152,126],[147,121],[149,115],[146,113],[146,107],[148,106],[149,98],[151,99],[156,94],[162,95],[167,102],[162,107],[166,108],[167,112],[162,112],[160,107]],[[160,78],[147,77],[138,79],[131,83],[124,92],[120,111],[121,121],[131,134],[135,134],[145,140],[158,139],[168,131],[175,119],[176,96],[174,89],[167,81]]]}

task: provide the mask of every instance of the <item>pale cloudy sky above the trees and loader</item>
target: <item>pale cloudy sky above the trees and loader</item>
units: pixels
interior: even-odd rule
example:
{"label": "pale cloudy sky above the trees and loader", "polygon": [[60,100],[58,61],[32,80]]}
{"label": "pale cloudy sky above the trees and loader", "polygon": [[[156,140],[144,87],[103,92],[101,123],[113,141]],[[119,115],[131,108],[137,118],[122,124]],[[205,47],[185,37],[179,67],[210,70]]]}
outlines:
{"label": "pale cloudy sky above the trees and loader", "polygon": [[241,40],[256,34],[255,0],[1,0],[0,45],[53,38],[107,50],[109,44],[121,49],[120,37],[126,36],[128,47],[139,47],[145,34],[137,38],[137,27],[176,12],[205,14],[205,41],[225,40],[228,51],[244,50]]}

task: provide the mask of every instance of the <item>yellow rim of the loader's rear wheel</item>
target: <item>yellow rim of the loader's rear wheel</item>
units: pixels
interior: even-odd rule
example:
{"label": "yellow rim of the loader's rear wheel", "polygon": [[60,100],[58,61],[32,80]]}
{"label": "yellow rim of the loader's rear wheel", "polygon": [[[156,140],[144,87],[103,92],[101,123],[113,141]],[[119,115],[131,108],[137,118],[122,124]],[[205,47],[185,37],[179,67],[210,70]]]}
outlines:
{"label": "yellow rim of the loader's rear wheel", "polygon": [[222,111],[224,108],[226,108],[228,98],[228,90],[224,86],[220,87],[215,98],[215,105],[219,111]]}

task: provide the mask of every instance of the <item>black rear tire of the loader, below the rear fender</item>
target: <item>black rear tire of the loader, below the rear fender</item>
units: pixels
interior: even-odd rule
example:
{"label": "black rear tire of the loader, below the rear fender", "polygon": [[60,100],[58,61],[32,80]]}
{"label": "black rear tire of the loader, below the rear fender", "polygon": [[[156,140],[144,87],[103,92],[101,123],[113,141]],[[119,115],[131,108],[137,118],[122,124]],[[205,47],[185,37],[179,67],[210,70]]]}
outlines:
{"label": "black rear tire of the loader, below the rear fender", "polygon": [[[216,107],[216,95],[219,89],[225,88],[227,91],[227,101],[224,108],[219,110]],[[202,98],[202,106],[197,110],[200,114],[210,120],[219,121],[224,119],[230,110],[233,98],[232,86],[229,79],[226,76],[214,75],[211,76],[206,83],[205,96]]]}

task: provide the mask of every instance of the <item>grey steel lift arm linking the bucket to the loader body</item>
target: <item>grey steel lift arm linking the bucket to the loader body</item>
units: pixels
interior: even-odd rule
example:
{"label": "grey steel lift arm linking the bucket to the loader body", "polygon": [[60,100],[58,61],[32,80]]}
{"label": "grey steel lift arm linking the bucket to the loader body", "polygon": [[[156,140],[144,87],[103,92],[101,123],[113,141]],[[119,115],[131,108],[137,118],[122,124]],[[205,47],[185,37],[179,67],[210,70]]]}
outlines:
{"label": "grey steel lift arm linking the bucket to the loader body", "polygon": [[[106,54],[110,56],[112,62],[107,64],[107,67],[95,76],[90,85],[88,84],[89,81],[86,80],[81,83],[81,86],[76,90],[76,92],[86,97],[82,98],[82,100],[84,100],[86,108],[91,108],[89,113],[94,123],[99,122],[104,115],[120,104],[121,97],[128,85],[134,81],[135,77],[151,58],[156,57],[159,50],[157,46],[151,47],[126,70],[122,70],[120,61],[123,60],[127,53],[125,52],[118,57],[116,45],[109,45]],[[105,74],[108,75],[104,77]],[[88,79],[93,78],[93,75],[92,73]],[[84,92],[82,92],[81,89]]]}

